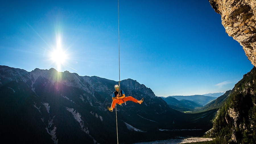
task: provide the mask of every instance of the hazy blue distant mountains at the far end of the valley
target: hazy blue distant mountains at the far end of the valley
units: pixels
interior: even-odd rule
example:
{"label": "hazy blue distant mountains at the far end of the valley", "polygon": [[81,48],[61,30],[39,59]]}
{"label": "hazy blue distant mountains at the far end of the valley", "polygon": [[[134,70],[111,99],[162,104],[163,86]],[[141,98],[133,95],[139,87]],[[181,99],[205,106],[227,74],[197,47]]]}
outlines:
{"label": "hazy blue distant mountains at the far end of the valley", "polygon": [[206,105],[209,101],[216,99],[216,97],[210,97],[210,96],[205,96],[205,95],[189,95],[189,96],[176,95],[176,96],[169,96],[169,97],[174,97],[175,99],[177,99],[179,101],[181,99],[193,101],[202,106]]}

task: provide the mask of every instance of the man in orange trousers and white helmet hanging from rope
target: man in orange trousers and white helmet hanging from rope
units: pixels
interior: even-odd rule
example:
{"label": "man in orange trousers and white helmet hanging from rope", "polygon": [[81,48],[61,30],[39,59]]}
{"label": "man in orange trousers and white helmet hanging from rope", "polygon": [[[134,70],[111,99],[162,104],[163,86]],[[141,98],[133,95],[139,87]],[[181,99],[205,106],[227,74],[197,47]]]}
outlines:
{"label": "man in orange trousers and white helmet hanging from rope", "polygon": [[125,97],[125,93],[120,90],[120,94],[119,95],[119,86],[118,85],[115,85],[115,92],[113,92],[113,95],[112,95],[112,105],[111,107],[108,107],[108,110],[110,110],[111,112],[113,111],[113,109],[115,108],[115,104],[122,104],[122,103],[125,103],[126,101],[133,101],[135,103],[139,103],[139,104],[142,104],[144,98],[142,98],[140,101],[138,101],[137,99],[133,98],[132,96],[128,96],[128,97]]}

